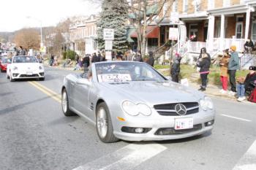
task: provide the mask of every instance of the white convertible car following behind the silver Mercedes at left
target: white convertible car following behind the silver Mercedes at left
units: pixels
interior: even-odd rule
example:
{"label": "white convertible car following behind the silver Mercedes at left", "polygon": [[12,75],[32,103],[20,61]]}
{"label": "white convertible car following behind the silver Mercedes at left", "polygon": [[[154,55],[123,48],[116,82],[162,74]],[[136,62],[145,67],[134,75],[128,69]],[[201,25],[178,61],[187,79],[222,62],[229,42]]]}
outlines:
{"label": "white convertible car following behind the silver Mercedes at left", "polygon": [[7,79],[13,82],[17,79],[45,80],[45,69],[35,56],[17,55],[7,66]]}

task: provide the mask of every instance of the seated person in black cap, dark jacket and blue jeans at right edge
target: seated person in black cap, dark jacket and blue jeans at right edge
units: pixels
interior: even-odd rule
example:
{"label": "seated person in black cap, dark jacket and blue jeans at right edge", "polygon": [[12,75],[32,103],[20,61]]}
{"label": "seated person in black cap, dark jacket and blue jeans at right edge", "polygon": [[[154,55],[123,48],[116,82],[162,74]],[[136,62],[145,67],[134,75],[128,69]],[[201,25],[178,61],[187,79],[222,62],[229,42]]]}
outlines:
{"label": "seated person in black cap, dark jacket and blue jeans at right edge", "polygon": [[246,78],[238,77],[238,80],[237,80],[238,83],[236,85],[238,101],[244,101],[244,99],[246,99],[245,98],[246,91],[251,92],[254,89],[254,87],[252,87],[252,84],[254,84],[256,81],[255,70],[256,70],[255,66],[250,66],[249,73],[246,75]]}

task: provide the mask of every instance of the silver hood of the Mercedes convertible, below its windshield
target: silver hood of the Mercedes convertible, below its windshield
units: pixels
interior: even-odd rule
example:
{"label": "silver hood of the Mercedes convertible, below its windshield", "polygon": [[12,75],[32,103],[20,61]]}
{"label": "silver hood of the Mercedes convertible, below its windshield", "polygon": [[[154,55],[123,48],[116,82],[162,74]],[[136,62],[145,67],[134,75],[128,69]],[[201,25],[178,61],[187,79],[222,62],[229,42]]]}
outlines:
{"label": "silver hood of the Mercedes convertible, below its windshield", "polygon": [[149,105],[176,102],[199,101],[205,96],[195,89],[187,88],[176,82],[116,82],[102,83],[122,98],[135,102],[145,102]]}

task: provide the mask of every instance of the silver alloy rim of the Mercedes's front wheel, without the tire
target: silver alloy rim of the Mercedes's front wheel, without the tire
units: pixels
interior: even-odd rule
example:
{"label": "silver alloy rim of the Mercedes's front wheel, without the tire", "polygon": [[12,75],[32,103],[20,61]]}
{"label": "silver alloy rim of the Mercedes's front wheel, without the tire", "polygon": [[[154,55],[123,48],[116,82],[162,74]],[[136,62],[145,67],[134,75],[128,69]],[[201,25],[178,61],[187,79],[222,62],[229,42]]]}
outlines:
{"label": "silver alloy rim of the Mercedes's front wheel, without the tire", "polygon": [[108,120],[105,109],[100,107],[97,114],[97,128],[99,136],[105,138],[108,133]]}

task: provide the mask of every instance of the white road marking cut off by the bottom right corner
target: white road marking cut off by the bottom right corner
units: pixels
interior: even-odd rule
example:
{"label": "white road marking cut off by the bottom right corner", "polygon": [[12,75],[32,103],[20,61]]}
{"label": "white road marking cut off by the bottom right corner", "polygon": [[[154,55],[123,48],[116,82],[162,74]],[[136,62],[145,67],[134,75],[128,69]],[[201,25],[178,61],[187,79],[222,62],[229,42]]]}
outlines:
{"label": "white road marking cut off by the bottom right corner", "polygon": [[256,169],[256,140],[253,142],[249,150],[244,156],[236,163],[233,170],[252,170]]}

